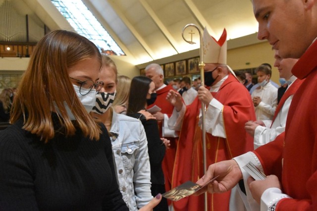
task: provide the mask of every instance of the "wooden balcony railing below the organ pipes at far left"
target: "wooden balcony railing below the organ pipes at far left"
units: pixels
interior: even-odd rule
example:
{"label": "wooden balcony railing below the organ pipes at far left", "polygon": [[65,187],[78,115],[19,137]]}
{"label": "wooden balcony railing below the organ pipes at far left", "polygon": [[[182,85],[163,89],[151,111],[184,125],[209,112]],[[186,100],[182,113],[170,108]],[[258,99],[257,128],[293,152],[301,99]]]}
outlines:
{"label": "wooden balcony railing below the organ pipes at far left", "polygon": [[35,42],[0,42],[0,57],[30,57]]}

